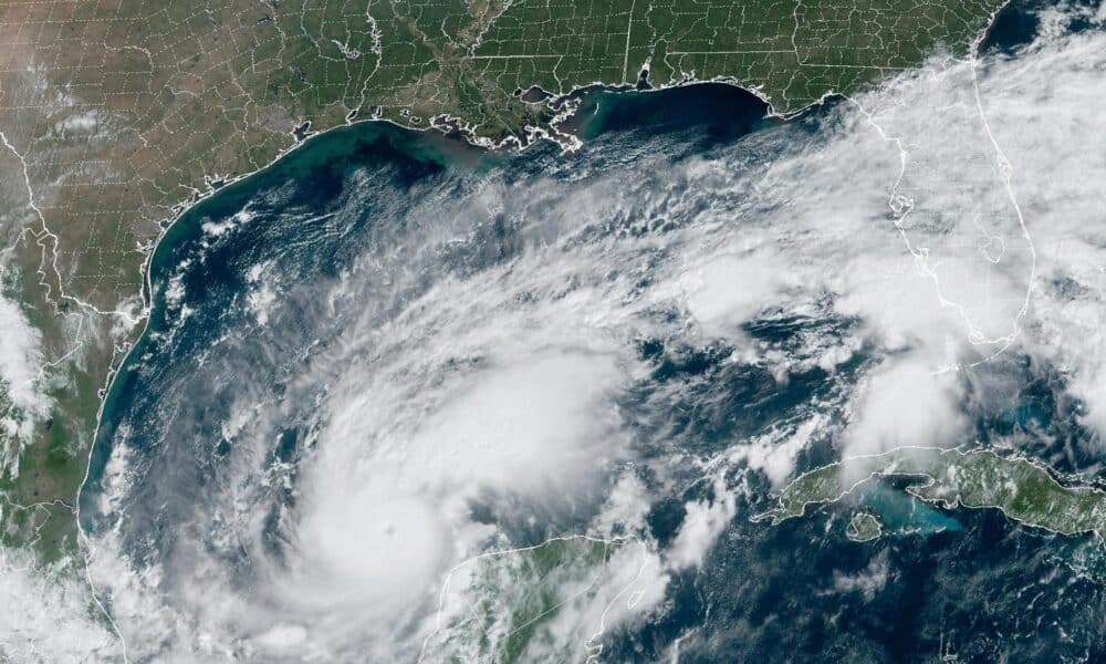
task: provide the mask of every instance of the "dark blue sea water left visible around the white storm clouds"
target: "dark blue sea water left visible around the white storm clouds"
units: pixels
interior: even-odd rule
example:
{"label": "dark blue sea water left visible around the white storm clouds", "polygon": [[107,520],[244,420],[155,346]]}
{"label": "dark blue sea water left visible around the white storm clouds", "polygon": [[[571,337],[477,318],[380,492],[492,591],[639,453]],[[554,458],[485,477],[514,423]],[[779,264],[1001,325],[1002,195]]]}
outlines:
{"label": "dark blue sea water left visible around the white storm clouds", "polygon": [[[989,48],[1012,49],[1032,32],[1035,23],[1019,7],[1004,10]],[[341,283],[365,256],[382,257],[378,278],[387,279],[388,261],[401,261],[404,251],[417,249],[399,241],[408,237],[404,234],[439,221],[421,216],[419,201],[474,196],[488,178],[552,179],[567,189],[577,178],[633,168],[649,154],[665,154],[676,163],[740,152],[749,136],[766,132],[789,142],[810,141],[821,123],[832,122],[832,112],[815,111],[783,127],[764,121],[763,104],[751,95],[700,85],[589,97],[576,121],[586,146],[573,155],[550,146],[489,155],[436,135],[374,124],[311,139],[190,210],[158,246],[150,263],[149,325],[104,404],[81,496],[84,527],[95,536],[121,518],[102,511],[98,500],[105,491],[105,465],[125,440],[140,453],[132,459],[132,470],[142,478],[122,517],[128,552],[135,560],[169,563],[171,558],[161,557],[174,551],[177,539],[202,539],[202,532],[175,532],[175,525],[189,521],[209,487],[229,481],[225,465],[239,463],[233,443],[218,435],[232,403],[243,392],[267,403],[299,394],[294,380],[301,369],[340,343],[346,320],[367,307],[359,299],[320,301],[313,293],[321,283]],[[748,155],[750,162],[770,157],[760,151]],[[248,231],[213,236],[205,230],[247,207],[254,215]],[[442,252],[444,271],[463,276],[517,258],[525,250],[520,222],[505,215],[481,225]],[[648,232],[662,235],[666,222],[618,219],[594,232],[645,232],[644,224]],[[270,324],[258,325],[243,299],[250,269],[267,261],[282,276],[284,305]],[[413,284],[410,297],[437,278]],[[184,292],[176,300],[168,297],[174,283]],[[393,312],[376,313],[386,319]],[[855,324],[783,317],[753,321],[744,332],[768,347],[799,353],[804,334],[832,338]],[[702,345],[668,336],[634,343],[649,375],[622,398],[620,408],[643,442],[641,454],[654,458],[674,452],[706,456],[802,419],[814,407],[841,422],[851,386],[880,362],[873,351],[862,350],[832,375],[815,367],[781,384],[761,366],[731,361],[733,349],[723,342]],[[1018,387],[1009,408],[977,413],[981,440],[1016,433],[1034,455],[1065,469],[1086,470],[1086,435],[1071,406],[1056,397],[1062,385],[1047,372],[1019,362],[1006,370],[1018,376]],[[249,384],[234,380],[247,373]],[[657,407],[660,401],[665,408]],[[263,465],[279,460],[294,466],[310,453],[315,405],[288,400],[282,407],[285,419]],[[800,471],[834,460],[833,436],[831,429],[800,454]],[[740,466],[733,470],[734,481],[742,473]],[[761,474],[745,478],[751,490],[739,495],[738,517],[705,564],[674,573],[665,609],[654,619],[607,634],[611,661],[658,661],[681,637],[680,662],[933,662],[949,652],[962,662],[1093,662],[1106,656],[1103,587],[1057,562],[1072,560],[1071,542],[1021,528],[995,511],[938,510],[884,485],[865,497],[888,530],[874,542],[844,536],[853,509],[847,505],[812,509],[807,518],[769,527],[748,517],[769,506],[772,487]],[[684,522],[685,502],[712,496],[713,489],[690,473],[686,480],[668,489],[654,487],[658,495],[647,521],[649,536],[661,548]],[[273,506],[294,507],[294,491],[274,487],[272,494]],[[473,511],[489,522],[502,520],[519,544],[549,535],[532,525],[511,523],[494,501],[476,505]],[[565,525],[586,522],[589,516],[572,513],[564,517]],[[274,538],[269,544],[279,557],[284,543]],[[1085,549],[1077,554],[1086,557]],[[248,569],[251,562],[231,556],[228,564]]]}

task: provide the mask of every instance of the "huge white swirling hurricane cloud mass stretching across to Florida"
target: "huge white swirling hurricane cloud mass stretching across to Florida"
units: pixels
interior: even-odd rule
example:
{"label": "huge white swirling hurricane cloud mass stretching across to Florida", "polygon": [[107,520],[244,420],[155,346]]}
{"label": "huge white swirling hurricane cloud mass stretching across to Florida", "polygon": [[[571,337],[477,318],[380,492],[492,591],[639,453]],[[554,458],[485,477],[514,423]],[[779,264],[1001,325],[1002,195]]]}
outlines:
{"label": "huge white swirling hurricane cloud mass stretching across to Florida", "polygon": [[[220,424],[229,479],[170,525],[168,558],[132,554],[129,517],[93,542],[94,577],[132,650],[472,657],[518,629],[492,621],[491,646],[466,631],[488,583],[518,606],[540,582],[564,609],[535,611],[545,621],[532,658],[594,652],[597,635],[662,611],[670,575],[702,564],[740,518],[735,466],[780,486],[827,432],[843,455],[970,444],[967,384],[1014,353],[1058,366],[1086,423],[1106,432],[1106,133],[1087,116],[1104,76],[1106,37],[1046,33],[1015,59],[905,73],[841,104],[814,137],[783,126],[675,164],[639,155],[570,183],[493,175],[471,196],[428,194],[401,241],[335,281],[296,291],[258,267],[251,282],[263,270],[285,298],[240,302],[253,320],[279,331],[282,308],[310,298],[341,331],[295,365],[282,400],[236,397],[243,405]],[[441,267],[493,218],[513,225],[509,260]],[[236,232],[211,228],[212,242]],[[747,333],[789,318],[851,325],[792,346]],[[696,452],[703,434],[665,423],[718,397],[695,401],[692,378],[645,391],[645,339],[728,344],[732,365],[778,384],[815,369],[833,381],[865,349],[878,360],[856,390],[707,454]],[[839,432],[820,412],[837,397]],[[307,452],[270,459],[301,406]],[[126,430],[116,444],[108,515],[133,509],[142,471]],[[681,526],[661,544],[645,515],[679,495],[687,468],[711,497],[680,500]],[[285,489],[293,498],[270,515],[268,497]],[[528,528],[572,542],[557,553],[562,575],[512,540]],[[226,562],[236,557],[246,571]],[[874,595],[888,573],[884,559],[835,583]]]}

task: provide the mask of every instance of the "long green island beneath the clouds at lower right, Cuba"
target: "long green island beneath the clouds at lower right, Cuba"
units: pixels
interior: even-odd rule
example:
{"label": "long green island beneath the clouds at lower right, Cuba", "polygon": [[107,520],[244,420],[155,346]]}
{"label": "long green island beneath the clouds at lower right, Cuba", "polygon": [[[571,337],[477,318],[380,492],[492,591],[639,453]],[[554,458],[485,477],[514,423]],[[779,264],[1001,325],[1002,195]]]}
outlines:
{"label": "long green island beneath the clouds at lower right, Cuba", "polygon": [[1106,491],[1062,483],[1032,460],[991,450],[907,447],[852,457],[800,476],[757,520],[778,525],[802,517],[807,506],[836,502],[879,477],[902,478],[907,491],[946,509],[993,508],[1026,526],[1106,541]]}

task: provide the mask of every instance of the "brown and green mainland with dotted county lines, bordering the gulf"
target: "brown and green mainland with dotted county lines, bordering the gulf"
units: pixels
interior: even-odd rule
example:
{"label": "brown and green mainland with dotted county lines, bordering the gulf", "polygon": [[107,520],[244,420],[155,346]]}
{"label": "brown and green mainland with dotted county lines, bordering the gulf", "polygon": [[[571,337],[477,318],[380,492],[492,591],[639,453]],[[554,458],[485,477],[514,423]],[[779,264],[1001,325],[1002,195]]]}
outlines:
{"label": "brown and green mainland with dotted county lines, bordering the gulf", "polygon": [[973,55],[1004,1],[4,2],[0,303],[39,371],[31,396],[0,375],[0,543],[80,567],[76,497],[154,246],[309,134],[387,121],[571,149],[581,91],[705,81],[790,117]]}

